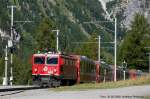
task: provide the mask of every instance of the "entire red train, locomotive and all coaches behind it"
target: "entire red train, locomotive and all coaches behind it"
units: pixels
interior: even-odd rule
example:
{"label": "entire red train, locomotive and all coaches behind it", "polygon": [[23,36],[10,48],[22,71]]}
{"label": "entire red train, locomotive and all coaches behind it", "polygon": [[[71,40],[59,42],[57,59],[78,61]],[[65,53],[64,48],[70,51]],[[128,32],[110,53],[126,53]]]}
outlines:
{"label": "entire red train, locomotive and all coaches behind it", "polygon": [[[123,70],[117,67],[117,80]],[[126,71],[126,78],[130,74]],[[113,81],[114,66],[81,55],[47,52],[32,55],[32,82],[41,87],[59,87],[78,83]]]}

